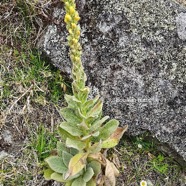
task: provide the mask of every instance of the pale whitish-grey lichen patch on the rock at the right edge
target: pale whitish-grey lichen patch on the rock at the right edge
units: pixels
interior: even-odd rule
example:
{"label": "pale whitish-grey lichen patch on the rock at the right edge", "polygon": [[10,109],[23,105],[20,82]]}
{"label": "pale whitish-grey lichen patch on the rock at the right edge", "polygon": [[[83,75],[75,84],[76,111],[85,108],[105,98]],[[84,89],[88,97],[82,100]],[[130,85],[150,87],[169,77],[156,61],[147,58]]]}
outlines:
{"label": "pale whitish-grey lichen patch on the rock at the right edge", "polygon": [[186,40],[186,13],[180,13],[176,17],[176,25],[178,36],[182,40]]}

